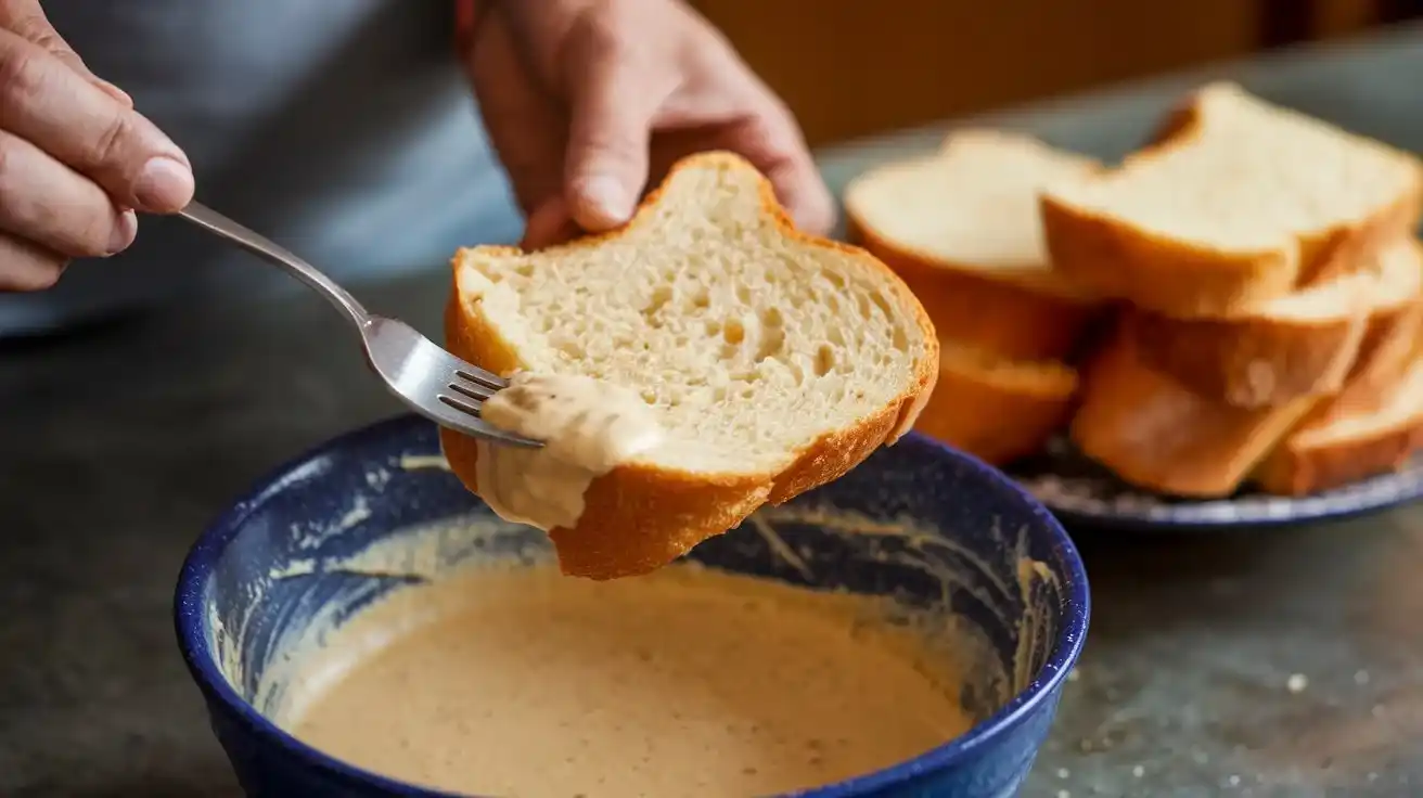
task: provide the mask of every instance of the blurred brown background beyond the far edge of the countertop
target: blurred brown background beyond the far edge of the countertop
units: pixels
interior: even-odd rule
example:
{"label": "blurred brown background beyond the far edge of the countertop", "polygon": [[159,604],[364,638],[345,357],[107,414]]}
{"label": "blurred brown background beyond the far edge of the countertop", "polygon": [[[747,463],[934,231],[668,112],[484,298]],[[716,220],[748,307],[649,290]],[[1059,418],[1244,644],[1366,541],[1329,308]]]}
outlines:
{"label": "blurred brown background beyond the far edge of the countertop", "polygon": [[811,145],[1423,17],[1423,0],[692,4],[785,98]]}

